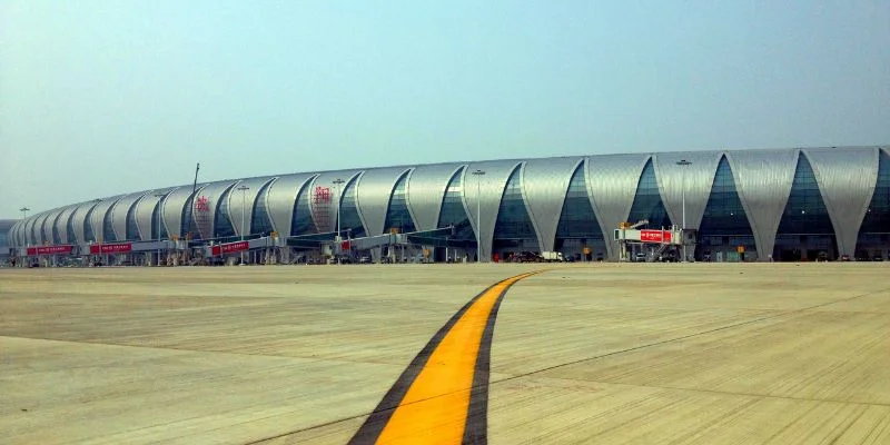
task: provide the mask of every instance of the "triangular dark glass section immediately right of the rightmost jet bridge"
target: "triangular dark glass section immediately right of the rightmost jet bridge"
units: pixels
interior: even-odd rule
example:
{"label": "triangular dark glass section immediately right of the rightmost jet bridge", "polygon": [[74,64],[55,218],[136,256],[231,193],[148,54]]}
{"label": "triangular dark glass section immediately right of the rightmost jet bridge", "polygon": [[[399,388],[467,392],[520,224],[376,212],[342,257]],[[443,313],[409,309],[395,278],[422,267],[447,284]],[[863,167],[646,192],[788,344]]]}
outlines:
{"label": "triangular dark glass section immediately right of the rightmost jet bridge", "polygon": [[[741,247],[741,249],[740,249]],[[711,186],[711,195],[699,226],[695,259],[700,261],[738,261],[756,259],[754,233],[748,220],[732,168],[726,157],[720,164]]]}

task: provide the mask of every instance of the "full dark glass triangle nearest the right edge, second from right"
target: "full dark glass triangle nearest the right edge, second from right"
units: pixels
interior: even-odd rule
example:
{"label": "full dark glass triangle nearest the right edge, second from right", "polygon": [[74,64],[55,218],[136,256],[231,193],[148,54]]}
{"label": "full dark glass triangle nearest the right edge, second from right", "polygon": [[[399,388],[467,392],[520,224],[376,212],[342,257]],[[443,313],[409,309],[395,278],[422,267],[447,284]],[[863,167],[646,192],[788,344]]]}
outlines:
{"label": "full dark glass triangle nearest the right edge, second from right", "polygon": [[807,156],[801,154],[791,195],[779,222],[773,259],[812,261],[820,256],[837,258],[838,244],[813,169]]}

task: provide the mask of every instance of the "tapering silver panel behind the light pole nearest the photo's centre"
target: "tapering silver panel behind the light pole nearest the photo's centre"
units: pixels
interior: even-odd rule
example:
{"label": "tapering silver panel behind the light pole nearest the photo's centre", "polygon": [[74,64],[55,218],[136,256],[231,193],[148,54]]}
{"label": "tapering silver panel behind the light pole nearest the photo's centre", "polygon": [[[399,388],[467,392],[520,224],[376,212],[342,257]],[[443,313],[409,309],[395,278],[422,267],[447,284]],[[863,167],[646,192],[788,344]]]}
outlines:
{"label": "tapering silver panel behind the light pole nearest the photo's centre", "polygon": [[[522,160],[495,160],[472,162],[464,169],[464,209],[473,225],[473,230],[479,234],[482,255],[479,258],[487,261],[492,254],[494,226],[497,222],[497,212],[501,209],[501,198],[510,180],[510,175]],[[473,175],[476,170],[485,171],[481,177]],[[479,210],[482,216],[479,217]]]}

